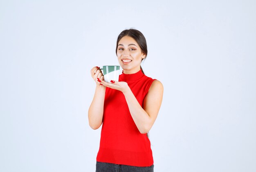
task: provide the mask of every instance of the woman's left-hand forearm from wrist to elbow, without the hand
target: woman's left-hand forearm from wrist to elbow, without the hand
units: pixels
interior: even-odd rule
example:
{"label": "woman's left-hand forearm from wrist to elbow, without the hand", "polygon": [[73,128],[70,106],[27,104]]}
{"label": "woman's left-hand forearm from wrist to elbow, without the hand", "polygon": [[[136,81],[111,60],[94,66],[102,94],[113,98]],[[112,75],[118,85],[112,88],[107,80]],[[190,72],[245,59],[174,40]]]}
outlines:
{"label": "woman's left-hand forearm from wrist to elbow, without the hand", "polygon": [[92,129],[97,129],[102,124],[105,91],[106,87],[96,86],[94,97],[88,110],[89,125]]}

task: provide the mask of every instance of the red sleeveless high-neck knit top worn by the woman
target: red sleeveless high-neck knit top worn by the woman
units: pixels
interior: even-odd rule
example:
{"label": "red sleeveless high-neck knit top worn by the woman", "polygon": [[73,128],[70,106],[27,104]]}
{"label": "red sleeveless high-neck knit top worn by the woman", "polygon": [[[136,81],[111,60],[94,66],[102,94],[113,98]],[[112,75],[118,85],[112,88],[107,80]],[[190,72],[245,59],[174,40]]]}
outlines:
{"label": "red sleeveless high-neck knit top worn by the woman", "polygon": [[[140,70],[135,74],[121,74],[119,81],[128,83],[143,108],[143,102],[154,79]],[[150,140],[141,134],[130,114],[121,91],[106,88],[98,162],[146,167],[153,165]]]}

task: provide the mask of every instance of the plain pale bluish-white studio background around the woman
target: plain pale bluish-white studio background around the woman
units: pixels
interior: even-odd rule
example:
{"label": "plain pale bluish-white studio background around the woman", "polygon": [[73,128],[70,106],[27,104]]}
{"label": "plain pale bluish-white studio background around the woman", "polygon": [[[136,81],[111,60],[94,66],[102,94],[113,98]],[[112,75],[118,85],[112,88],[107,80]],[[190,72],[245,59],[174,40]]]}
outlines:
{"label": "plain pale bluish-white studio background around the woman", "polygon": [[[155,172],[256,171],[256,2],[0,1],[0,171],[93,172],[93,66],[127,28],[164,85]],[[117,138],[118,139],[118,138]]]}

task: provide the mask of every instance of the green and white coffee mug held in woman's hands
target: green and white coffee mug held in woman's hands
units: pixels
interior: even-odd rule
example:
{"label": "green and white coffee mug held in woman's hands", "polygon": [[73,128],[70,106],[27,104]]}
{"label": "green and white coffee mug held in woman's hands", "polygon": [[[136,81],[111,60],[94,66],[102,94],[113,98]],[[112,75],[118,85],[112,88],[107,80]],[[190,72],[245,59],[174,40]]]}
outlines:
{"label": "green and white coffee mug held in woman's hands", "polygon": [[120,66],[103,66],[104,81],[110,83],[110,81],[118,81],[120,74]]}

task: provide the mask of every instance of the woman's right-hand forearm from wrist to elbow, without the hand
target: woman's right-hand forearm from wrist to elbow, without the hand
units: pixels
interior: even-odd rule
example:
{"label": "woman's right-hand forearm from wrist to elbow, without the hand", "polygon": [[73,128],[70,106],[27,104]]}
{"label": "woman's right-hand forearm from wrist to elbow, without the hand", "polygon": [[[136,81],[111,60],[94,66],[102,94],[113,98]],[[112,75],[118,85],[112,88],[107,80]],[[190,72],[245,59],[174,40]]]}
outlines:
{"label": "woman's right-hand forearm from wrist to elbow, without the hand", "polygon": [[137,128],[140,133],[148,133],[151,126],[151,120],[148,113],[141,107],[134,94],[130,89],[124,92],[124,96],[126,98],[126,102],[128,104],[128,108],[130,110],[130,114],[132,116],[133,121],[135,122]]}

